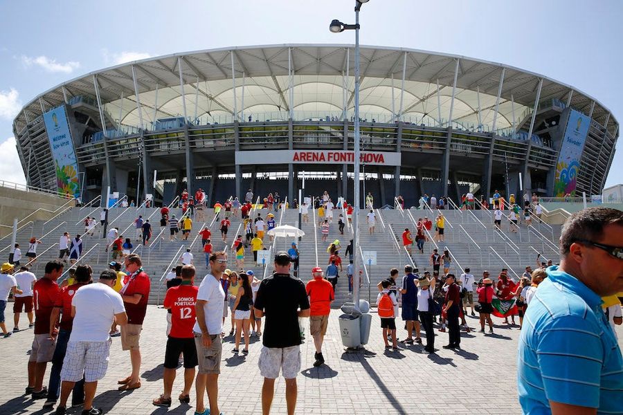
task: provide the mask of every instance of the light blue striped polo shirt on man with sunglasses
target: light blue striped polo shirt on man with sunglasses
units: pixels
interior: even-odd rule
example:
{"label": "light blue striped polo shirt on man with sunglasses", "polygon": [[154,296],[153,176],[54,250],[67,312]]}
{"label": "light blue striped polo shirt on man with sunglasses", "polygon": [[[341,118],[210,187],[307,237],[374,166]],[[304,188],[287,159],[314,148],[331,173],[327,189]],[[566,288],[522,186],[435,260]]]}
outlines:
{"label": "light blue striped polo shirt on man with sunglasses", "polygon": [[549,401],[623,409],[623,358],[602,299],[557,266],[547,270],[523,317],[517,383],[524,414],[550,414]]}

